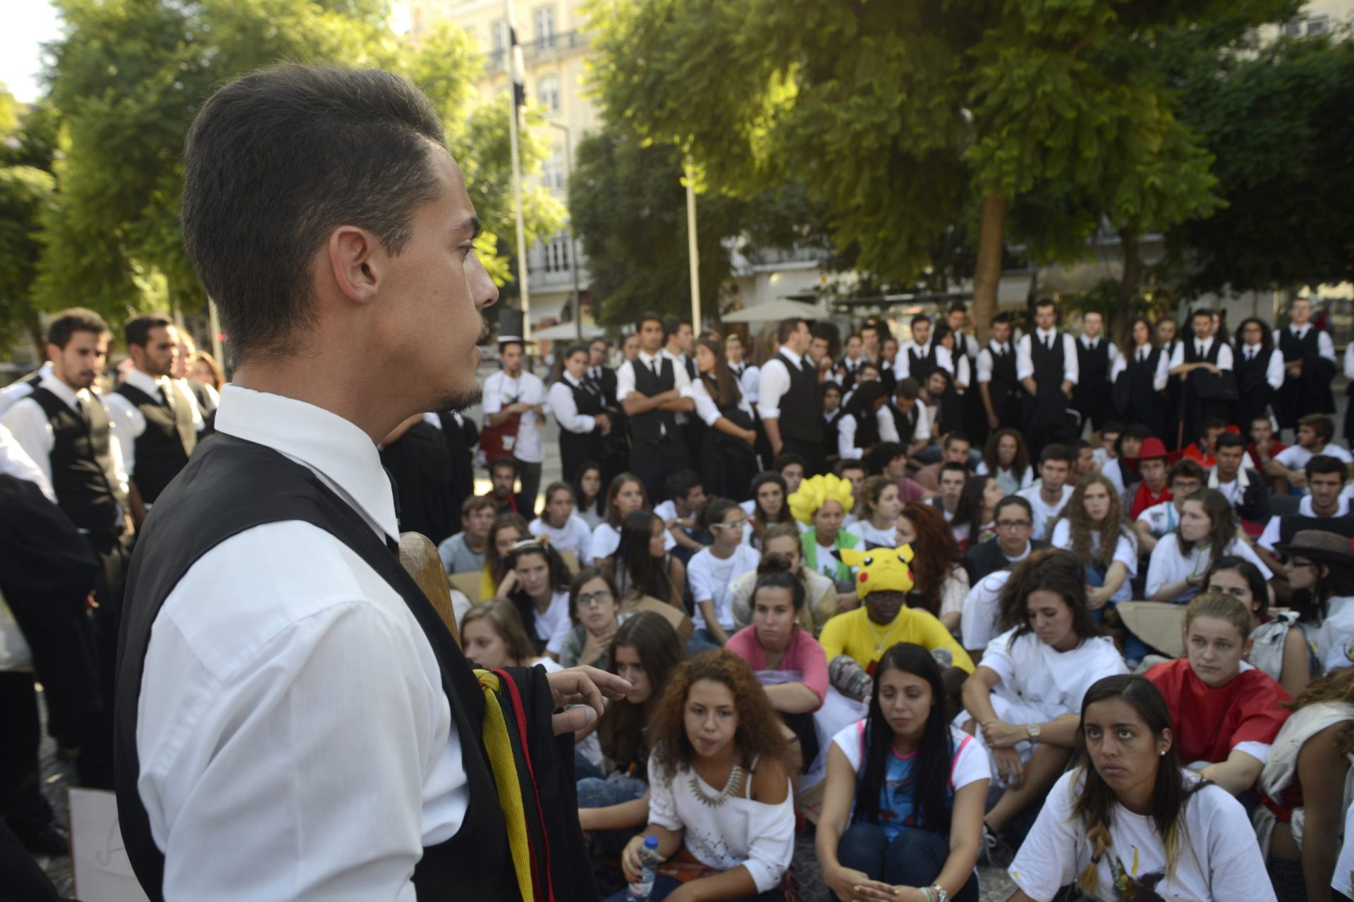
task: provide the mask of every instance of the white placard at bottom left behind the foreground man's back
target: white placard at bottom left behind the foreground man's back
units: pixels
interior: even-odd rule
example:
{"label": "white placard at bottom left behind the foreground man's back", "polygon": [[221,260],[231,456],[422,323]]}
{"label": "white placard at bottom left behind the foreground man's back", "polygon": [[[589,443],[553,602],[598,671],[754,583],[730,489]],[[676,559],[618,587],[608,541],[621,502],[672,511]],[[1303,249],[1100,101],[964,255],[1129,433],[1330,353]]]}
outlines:
{"label": "white placard at bottom left behind the foreground man's back", "polygon": [[118,798],[106,790],[66,791],[76,898],[83,902],[149,902],[118,828]]}

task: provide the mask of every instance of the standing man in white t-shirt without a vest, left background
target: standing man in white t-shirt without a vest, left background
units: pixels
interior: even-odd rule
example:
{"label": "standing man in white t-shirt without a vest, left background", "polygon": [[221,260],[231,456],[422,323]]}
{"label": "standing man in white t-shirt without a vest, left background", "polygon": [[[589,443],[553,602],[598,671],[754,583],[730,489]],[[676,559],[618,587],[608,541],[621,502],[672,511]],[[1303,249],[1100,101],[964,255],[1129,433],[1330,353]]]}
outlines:
{"label": "standing man in white t-shirt without a vest, left background", "polygon": [[546,383],[525,366],[527,346],[520,338],[498,342],[502,369],[485,380],[485,426],[504,431],[502,449],[517,464],[521,494],[535,508],[546,445],[540,425],[546,419]]}

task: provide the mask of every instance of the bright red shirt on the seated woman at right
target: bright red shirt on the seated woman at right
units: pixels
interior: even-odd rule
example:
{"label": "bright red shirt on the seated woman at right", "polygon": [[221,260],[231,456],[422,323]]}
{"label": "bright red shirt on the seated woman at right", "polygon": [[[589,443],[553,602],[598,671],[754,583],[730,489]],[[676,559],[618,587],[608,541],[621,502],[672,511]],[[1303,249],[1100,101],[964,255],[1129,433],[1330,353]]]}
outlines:
{"label": "bright red shirt on the seated woman at right", "polygon": [[1175,746],[1186,764],[1225,761],[1238,742],[1273,742],[1288,719],[1281,705],[1292,696],[1257,667],[1221,688],[1205,686],[1186,657],[1158,664],[1147,671],[1147,679],[1166,699]]}

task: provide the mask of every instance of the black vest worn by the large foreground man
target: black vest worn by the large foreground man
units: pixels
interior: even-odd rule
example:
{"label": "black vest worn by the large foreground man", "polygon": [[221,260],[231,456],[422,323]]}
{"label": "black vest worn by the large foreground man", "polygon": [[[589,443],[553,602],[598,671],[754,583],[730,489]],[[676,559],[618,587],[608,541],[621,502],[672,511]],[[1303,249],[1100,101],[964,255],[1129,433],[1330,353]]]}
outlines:
{"label": "black vest worn by the large foreground man", "polygon": [[[460,737],[470,805],[456,834],[425,848],[414,867],[420,898],[516,899],[502,809],[479,738],[483,695],[464,655],[397,554],[356,510],[307,468],[233,435],[218,435],[203,445],[164,492],[146,518],[127,575],[114,741],[122,837],[142,888],[152,901],[162,899],[164,855],[150,836],[137,790],[137,706],[150,627],[165,598],[203,554],[232,536],[282,521],[318,526],[375,569],[409,606],[441,669],[451,729]],[[324,767],[324,760],[311,764]]]}

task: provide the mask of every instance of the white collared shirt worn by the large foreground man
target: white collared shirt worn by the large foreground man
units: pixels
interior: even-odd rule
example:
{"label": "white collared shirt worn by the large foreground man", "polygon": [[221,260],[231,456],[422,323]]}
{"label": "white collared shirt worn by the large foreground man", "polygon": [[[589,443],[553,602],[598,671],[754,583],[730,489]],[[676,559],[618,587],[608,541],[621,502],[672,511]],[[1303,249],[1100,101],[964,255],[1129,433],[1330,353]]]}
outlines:
{"label": "white collared shirt worn by the large foreground man", "polygon": [[[217,430],[307,467],[374,533],[398,536],[376,446],[353,423],[227,385]],[[168,899],[412,902],[424,847],[466,814],[427,636],[309,523],[248,529],[188,569],[156,618],[138,711],[137,786]]]}

